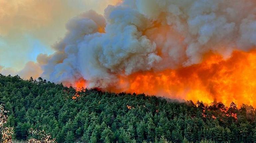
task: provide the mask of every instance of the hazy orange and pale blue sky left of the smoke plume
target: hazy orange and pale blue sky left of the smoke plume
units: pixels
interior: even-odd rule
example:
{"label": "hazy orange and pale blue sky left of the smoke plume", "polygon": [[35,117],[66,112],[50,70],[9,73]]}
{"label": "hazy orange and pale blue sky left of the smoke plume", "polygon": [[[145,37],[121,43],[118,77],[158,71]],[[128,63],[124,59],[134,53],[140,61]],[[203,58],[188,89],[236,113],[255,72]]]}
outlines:
{"label": "hazy orange and pale blue sky left of the smoke plume", "polygon": [[0,0],[0,66],[21,70],[65,35],[66,22],[90,9],[103,14],[119,0]]}

